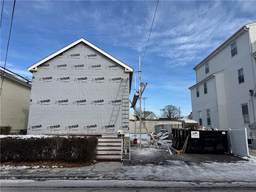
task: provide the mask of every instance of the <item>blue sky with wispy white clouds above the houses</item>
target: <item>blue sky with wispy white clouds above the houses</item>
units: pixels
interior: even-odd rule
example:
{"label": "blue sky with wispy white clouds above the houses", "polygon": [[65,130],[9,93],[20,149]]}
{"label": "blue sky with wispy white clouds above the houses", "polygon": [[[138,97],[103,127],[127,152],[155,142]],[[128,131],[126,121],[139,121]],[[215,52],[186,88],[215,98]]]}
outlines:
{"label": "blue sky with wispy white clouds above the houses", "polygon": [[[17,0],[6,68],[31,79],[28,66],[83,37],[137,72],[156,4],[157,1]],[[12,10],[13,1],[5,0],[1,66]],[[160,0],[141,65],[142,82],[148,83],[143,93],[148,98],[146,110],[160,115],[160,109],[172,104],[181,107],[182,115],[187,116],[191,112],[188,87],[196,83],[193,67],[243,25],[255,21],[256,1]],[[138,85],[138,73],[135,75]],[[133,95],[134,90],[131,100]]]}

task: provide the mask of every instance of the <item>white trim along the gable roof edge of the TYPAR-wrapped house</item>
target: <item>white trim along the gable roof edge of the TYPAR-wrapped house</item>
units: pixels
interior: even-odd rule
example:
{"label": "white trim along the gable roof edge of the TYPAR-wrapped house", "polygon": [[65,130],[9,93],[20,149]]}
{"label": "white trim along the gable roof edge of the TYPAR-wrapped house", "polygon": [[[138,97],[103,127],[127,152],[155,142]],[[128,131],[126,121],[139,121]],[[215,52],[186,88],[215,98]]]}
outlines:
{"label": "white trim along the gable roof edge of the TYPAR-wrapped house", "polygon": [[117,58],[113,57],[112,55],[109,55],[107,52],[104,52],[102,49],[98,48],[97,46],[95,46],[94,44],[92,44],[91,42],[83,39],[83,38],[80,38],[78,40],[76,40],[75,42],[72,42],[71,44],[63,47],[62,49],[54,52],[53,54],[49,55],[48,57],[45,57],[45,59],[42,59],[41,61],[35,63],[34,65],[28,67],[28,71],[32,70],[33,68],[45,63],[46,61],[52,59],[53,57],[56,57],[57,55],[59,55],[60,53],[72,48],[73,46],[75,46],[76,44],[80,43],[80,42],[84,42],[86,43],[87,45],[91,46],[92,48],[94,48],[95,50],[97,50],[98,52],[100,52],[101,54],[109,57],[109,59],[112,59],[113,61],[115,61],[116,63],[118,63],[119,65],[123,66],[124,68],[130,70],[130,72],[133,72],[134,69],[131,68],[130,66],[126,65],[125,63],[122,63],[122,61],[119,61]]}

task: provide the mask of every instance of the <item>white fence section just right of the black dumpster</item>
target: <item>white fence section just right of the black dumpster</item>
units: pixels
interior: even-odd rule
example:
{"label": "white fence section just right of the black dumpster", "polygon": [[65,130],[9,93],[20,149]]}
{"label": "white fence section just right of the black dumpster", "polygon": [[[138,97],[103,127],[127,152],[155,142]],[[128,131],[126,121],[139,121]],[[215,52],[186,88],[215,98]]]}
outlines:
{"label": "white fence section just right of the black dumpster", "polygon": [[229,152],[242,157],[249,156],[246,128],[228,129]]}

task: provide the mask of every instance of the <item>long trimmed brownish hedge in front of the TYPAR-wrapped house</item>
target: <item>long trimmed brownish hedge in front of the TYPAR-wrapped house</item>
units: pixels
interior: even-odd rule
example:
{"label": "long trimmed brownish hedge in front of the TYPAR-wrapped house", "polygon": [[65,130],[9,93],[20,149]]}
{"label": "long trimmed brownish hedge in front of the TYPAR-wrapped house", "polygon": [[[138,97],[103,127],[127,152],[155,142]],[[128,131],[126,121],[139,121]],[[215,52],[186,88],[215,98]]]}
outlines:
{"label": "long trimmed brownish hedge in front of the TYPAR-wrapped house", "polygon": [[97,144],[97,137],[6,137],[0,140],[0,161],[93,162],[97,155]]}

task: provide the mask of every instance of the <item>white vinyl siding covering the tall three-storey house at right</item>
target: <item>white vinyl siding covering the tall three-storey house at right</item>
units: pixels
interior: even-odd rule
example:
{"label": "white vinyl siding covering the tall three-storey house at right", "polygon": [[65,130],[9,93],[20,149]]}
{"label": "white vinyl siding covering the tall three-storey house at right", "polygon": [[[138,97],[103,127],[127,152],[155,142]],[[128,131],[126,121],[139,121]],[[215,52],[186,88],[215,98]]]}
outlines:
{"label": "white vinyl siding covering the tall three-storey house at right", "polygon": [[[256,40],[256,25],[250,26],[251,38]],[[252,34],[254,31],[254,34]],[[241,103],[248,103],[249,118],[252,123],[252,102],[250,100],[249,90],[254,90],[256,81],[255,78],[255,59],[250,54],[250,38],[249,32],[244,31],[239,36],[231,40],[226,44],[225,47],[222,47],[219,52],[211,58],[208,58],[208,62],[211,64],[210,74],[217,73],[215,75],[215,89],[210,89],[209,81],[208,83],[208,92],[211,94],[206,94],[207,96],[215,95],[216,99],[212,100],[203,99],[203,96],[200,95],[198,100],[195,98],[195,90],[191,89],[191,101],[192,101],[192,112],[193,118],[198,119],[198,111],[202,111],[202,120],[203,126],[206,125],[206,114],[204,111],[210,109],[211,113],[211,126],[221,129],[236,129],[247,127],[247,136],[249,135],[250,129],[243,122]],[[253,40],[254,40],[253,39]],[[230,44],[236,40],[238,54],[234,57],[231,56]],[[254,41],[255,41],[254,40]],[[252,41],[253,42],[253,41]],[[238,80],[238,70],[243,68],[243,74],[245,78],[244,83],[239,83]],[[222,71],[222,72],[221,72]],[[219,73],[220,72],[220,73]],[[196,78],[197,83],[206,79],[210,74],[205,74],[205,65],[201,65],[196,69]],[[201,85],[200,85],[201,87]],[[203,88],[203,87],[202,87]],[[201,89],[202,89],[201,88]],[[214,91],[214,92],[212,92]],[[254,109],[256,110],[256,100],[254,99]],[[215,111],[218,118],[215,118]],[[195,114],[195,116],[194,116]],[[255,111],[256,114],[256,111]],[[216,122],[216,120],[218,122]],[[215,126],[219,124],[219,126]],[[255,138],[255,136],[253,136]]]}

